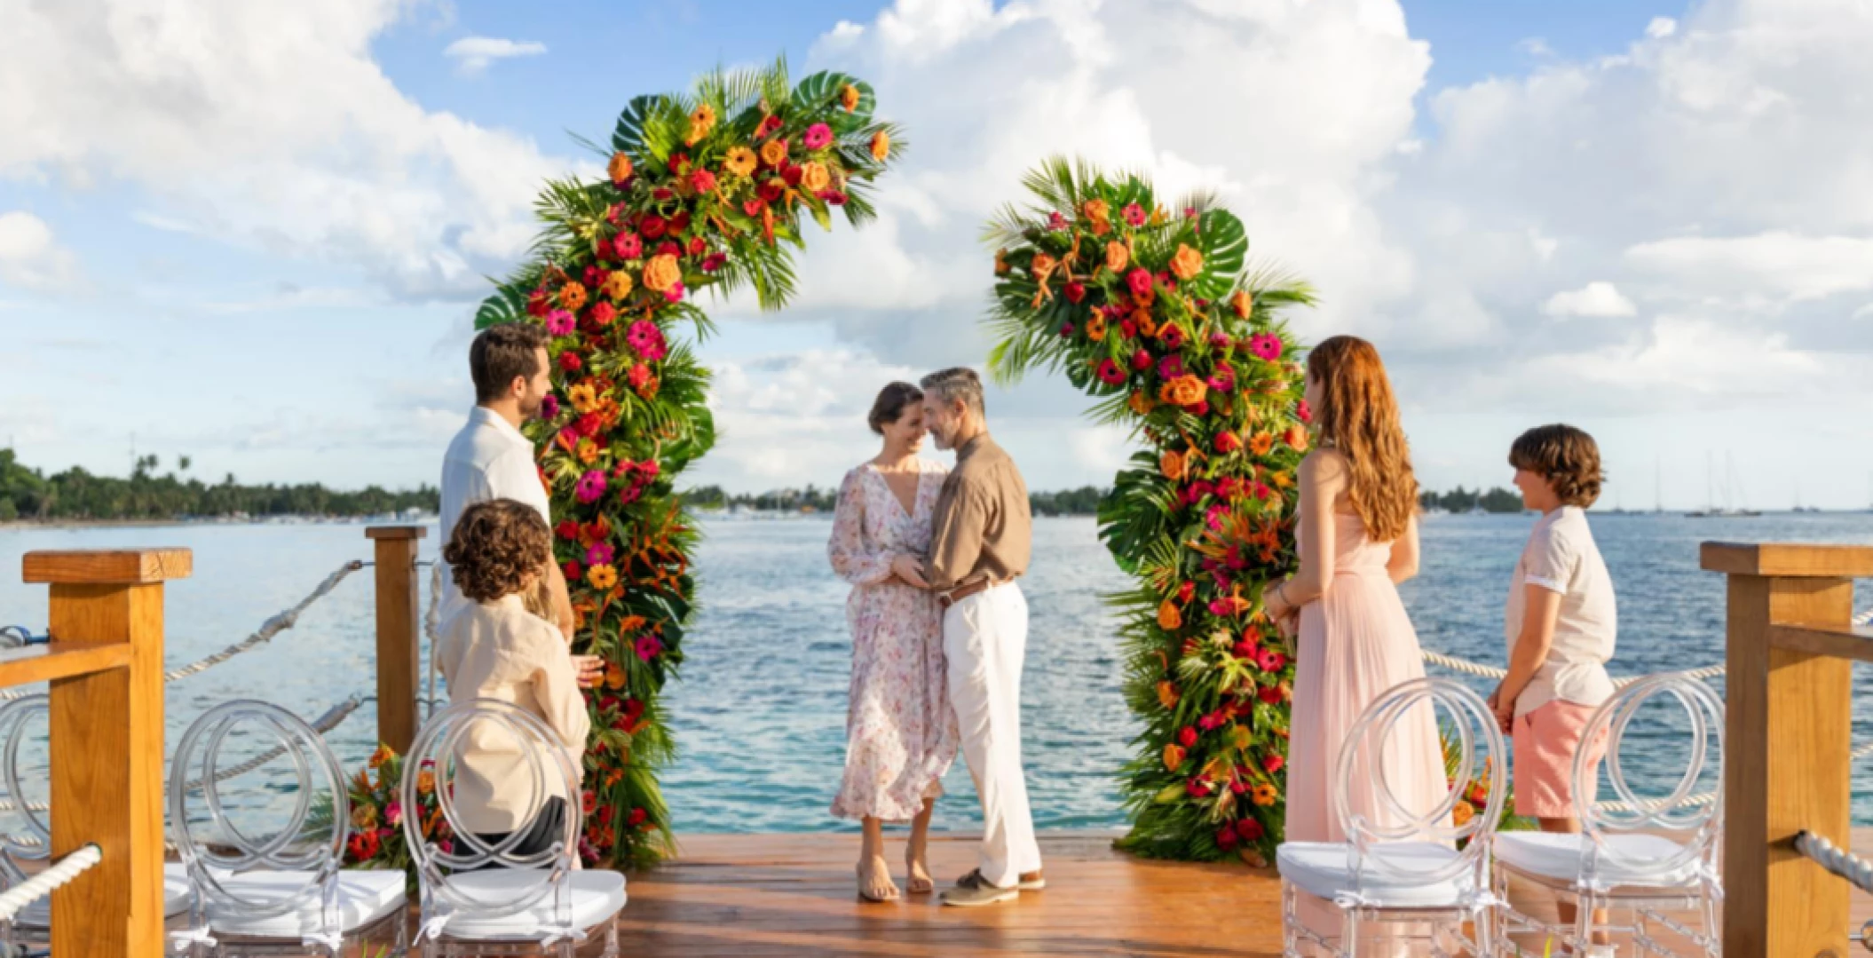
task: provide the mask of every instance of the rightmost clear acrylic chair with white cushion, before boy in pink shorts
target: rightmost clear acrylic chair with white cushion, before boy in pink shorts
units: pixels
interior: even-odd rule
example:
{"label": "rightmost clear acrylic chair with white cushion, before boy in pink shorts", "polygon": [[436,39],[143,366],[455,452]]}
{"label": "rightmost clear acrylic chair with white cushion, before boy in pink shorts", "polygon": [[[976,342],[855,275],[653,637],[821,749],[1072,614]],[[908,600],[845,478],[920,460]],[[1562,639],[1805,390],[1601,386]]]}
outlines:
{"label": "rightmost clear acrylic chair with white cushion, before boy in pink shorts", "polygon": [[[1688,722],[1682,739],[1684,774],[1669,795],[1639,795],[1620,769],[1626,733],[1639,711],[1663,701],[1676,705]],[[1671,714],[1671,711],[1667,711]],[[1658,739],[1656,724],[1650,737]],[[1652,932],[1669,928],[1706,956],[1721,952],[1718,906],[1723,876],[1718,849],[1723,844],[1723,699],[1704,682],[1684,675],[1654,675],[1622,688],[1594,712],[1581,735],[1592,742],[1607,735],[1605,778],[1615,793],[1609,804],[1586,802],[1588,784],[1600,774],[1583,748],[1573,757],[1573,808],[1581,834],[1502,832],[1497,836],[1497,896],[1506,930],[1536,932],[1583,951],[1592,932],[1626,932],[1639,952],[1673,954]],[[1676,729],[1673,729],[1676,731]],[[1658,757],[1656,742],[1654,759]],[[1676,767],[1676,765],[1671,765]],[[1570,928],[1547,924],[1508,904],[1510,877],[1532,881],[1575,906]],[[1631,924],[1594,924],[1594,909],[1631,911]],[[1689,911],[1701,928],[1671,915]]]}

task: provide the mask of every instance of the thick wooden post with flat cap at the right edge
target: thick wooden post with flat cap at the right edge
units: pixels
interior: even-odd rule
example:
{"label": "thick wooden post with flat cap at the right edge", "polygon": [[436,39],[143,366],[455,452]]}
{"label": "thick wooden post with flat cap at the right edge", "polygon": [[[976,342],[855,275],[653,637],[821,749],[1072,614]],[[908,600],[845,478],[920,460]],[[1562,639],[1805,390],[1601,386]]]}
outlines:
{"label": "thick wooden post with flat cap at the right edge", "polygon": [[1729,576],[1723,954],[1845,958],[1852,887],[1792,838],[1806,829],[1852,847],[1852,662],[1777,626],[1856,641],[1854,577],[1873,576],[1873,549],[1706,542],[1701,559]]}

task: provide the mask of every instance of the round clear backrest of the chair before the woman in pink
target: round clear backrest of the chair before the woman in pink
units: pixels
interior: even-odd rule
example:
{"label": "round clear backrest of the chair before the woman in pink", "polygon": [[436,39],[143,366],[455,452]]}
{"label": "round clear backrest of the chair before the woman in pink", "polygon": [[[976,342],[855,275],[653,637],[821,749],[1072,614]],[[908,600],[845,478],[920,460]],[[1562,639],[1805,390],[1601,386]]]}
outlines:
{"label": "round clear backrest of the chair before the woman in pink", "polygon": [[[1440,722],[1438,711],[1448,722]],[[1416,737],[1448,737],[1435,756],[1410,756],[1399,744]],[[1403,739],[1399,739],[1403,737]],[[1334,774],[1334,806],[1347,832],[1354,879],[1384,877],[1388,883],[1465,879],[1482,887],[1487,836],[1502,819],[1504,782],[1502,731],[1489,705],[1467,686],[1450,679],[1414,679],[1386,690],[1354,722],[1339,750]],[[1435,769],[1412,769],[1392,782],[1397,761],[1437,761]],[[1433,774],[1442,799],[1423,808],[1423,797],[1401,795],[1394,786]],[[1457,806],[1468,806],[1474,789],[1487,787],[1482,808],[1459,821]],[[1423,859],[1425,866],[1407,866],[1403,859],[1375,861],[1375,846],[1388,842],[1465,844],[1450,861]]]}

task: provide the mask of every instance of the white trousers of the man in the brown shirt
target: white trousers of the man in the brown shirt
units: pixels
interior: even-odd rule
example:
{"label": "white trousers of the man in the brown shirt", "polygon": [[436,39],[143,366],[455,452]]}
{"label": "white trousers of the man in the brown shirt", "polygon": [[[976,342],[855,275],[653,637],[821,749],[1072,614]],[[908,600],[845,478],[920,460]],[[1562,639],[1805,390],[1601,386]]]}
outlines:
{"label": "white trousers of the man in the brown shirt", "polygon": [[978,868],[991,885],[1015,885],[1038,872],[1028,784],[1021,772],[1021,660],[1028,647],[1028,600],[1013,583],[950,606],[942,651],[950,660],[950,705],[963,733],[963,759],[981,797]]}

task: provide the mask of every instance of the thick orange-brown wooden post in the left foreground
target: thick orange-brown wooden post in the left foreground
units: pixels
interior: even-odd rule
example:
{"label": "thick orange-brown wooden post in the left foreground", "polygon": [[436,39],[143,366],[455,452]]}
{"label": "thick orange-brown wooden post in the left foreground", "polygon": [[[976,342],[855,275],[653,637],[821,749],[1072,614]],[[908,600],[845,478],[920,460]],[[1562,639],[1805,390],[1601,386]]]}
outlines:
{"label": "thick orange-brown wooden post in the left foreground", "polygon": [[124,649],[124,666],[51,682],[52,859],[103,859],[52,891],[52,952],[163,954],[163,583],[187,549],[26,553],[51,585],[51,651]]}

